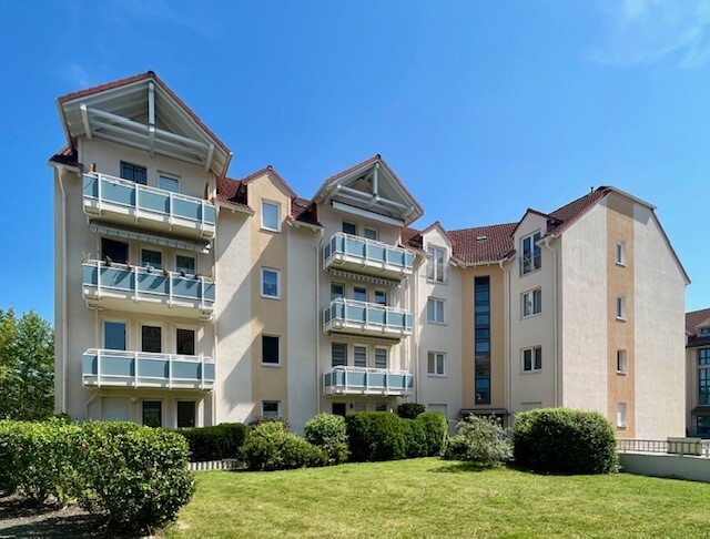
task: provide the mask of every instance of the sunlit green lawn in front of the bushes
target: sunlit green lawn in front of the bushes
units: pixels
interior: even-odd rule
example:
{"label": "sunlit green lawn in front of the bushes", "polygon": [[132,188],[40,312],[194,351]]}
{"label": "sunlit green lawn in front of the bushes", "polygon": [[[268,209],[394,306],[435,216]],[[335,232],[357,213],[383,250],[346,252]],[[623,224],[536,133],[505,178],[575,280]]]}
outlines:
{"label": "sunlit green lawn in front of the bushes", "polygon": [[710,485],[423,458],[199,472],[168,537],[704,537]]}

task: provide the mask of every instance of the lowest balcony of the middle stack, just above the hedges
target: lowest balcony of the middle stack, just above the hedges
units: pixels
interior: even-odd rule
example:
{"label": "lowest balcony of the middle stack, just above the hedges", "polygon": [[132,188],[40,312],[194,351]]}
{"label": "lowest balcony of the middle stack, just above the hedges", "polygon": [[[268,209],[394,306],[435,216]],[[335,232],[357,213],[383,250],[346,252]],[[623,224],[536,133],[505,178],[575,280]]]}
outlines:
{"label": "lowest balcony of the middle stack, just above the hedges", "polygon": [[405,397],[414,389],[414,376],[406,370],[368,367],[333,367],[323,373],[323,395],[378,395]]}

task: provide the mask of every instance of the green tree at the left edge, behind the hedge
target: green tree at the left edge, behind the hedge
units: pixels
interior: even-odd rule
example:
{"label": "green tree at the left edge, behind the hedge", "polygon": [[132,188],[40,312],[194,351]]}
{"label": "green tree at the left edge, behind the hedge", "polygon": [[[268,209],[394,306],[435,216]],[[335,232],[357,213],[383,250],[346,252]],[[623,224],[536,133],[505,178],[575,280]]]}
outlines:
{"label": "green tree at the left edge, behind the hedge", "polygon": [[54,330],[34,311],[0,309],[0,418],[44,419],[54,409]]}

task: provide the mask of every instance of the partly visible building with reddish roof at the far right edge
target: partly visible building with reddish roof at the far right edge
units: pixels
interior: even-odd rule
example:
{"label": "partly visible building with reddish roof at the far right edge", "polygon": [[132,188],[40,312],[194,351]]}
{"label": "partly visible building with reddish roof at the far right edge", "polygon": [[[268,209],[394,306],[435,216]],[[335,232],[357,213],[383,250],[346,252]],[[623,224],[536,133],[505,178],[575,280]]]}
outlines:
{"label": "partly visible building with reddish roof at the far right edge", "polygon": [[710,438],[710,308],[686,314],[686,429]]}

